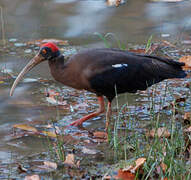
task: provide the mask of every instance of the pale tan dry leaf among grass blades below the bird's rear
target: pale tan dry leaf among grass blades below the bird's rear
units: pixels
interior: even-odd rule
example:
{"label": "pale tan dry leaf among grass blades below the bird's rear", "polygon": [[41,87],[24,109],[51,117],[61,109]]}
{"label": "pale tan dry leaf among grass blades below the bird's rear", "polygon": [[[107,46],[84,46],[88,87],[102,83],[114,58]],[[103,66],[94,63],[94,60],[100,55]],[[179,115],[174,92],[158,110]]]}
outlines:
{"label": "pale tan dry leaf among grass blades below the bird's rear", "polygon": [[156,129],[152,129],[152,130],[148,131],[146,133],[146,135],[148,137],[152,137],[152,138],[154,138],[156,135],[159,138],[162,138],[162,137],[168,138],[168,137],[170,137],[170,132],[165,127],[162,127],[162,128],[158,128],[157,131],[156,131]]}

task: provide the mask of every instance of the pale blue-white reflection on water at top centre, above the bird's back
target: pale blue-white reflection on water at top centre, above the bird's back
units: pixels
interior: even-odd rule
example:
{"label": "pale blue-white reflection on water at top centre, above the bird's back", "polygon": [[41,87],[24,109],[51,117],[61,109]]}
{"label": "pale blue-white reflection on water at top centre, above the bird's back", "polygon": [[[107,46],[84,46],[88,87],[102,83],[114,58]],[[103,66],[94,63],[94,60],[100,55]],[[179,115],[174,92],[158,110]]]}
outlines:
{"label": "pale blue-white reflection on water at top centre, above the bird's back", "polygon": [[110,16],[111,11],[105,13],[106,10],[104,1],[79,1],[75,6],[75,15],[67,18],[69,28],[65,36],[75,37],[99,31]]}

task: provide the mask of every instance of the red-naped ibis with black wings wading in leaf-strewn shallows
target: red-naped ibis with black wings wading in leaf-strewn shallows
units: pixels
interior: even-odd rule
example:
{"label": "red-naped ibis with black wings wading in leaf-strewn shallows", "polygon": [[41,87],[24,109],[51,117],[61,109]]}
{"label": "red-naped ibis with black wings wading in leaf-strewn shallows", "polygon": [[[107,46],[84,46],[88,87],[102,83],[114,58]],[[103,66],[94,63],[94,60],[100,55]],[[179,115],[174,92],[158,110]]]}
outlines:
{"label": "red-naped ibis with black wings wading in leaf-strewn shallows", "polygon": [[62,84],[85,89],[97,95],[99,109],[71,123],[82,125],[84,121],[105,112],[104,98],[108,99],[106,128],[111,112],[111,102],[116,93],[135,93],[168,78],[184,78],[184,63],[171,59],[136,54],[119,49],[98,48],[81,51],[65,60],[54,43],[43,44],[37,55],[29,61],[16,78],[10,95],[21,78],[34,66],[48,60],[51,74]]}

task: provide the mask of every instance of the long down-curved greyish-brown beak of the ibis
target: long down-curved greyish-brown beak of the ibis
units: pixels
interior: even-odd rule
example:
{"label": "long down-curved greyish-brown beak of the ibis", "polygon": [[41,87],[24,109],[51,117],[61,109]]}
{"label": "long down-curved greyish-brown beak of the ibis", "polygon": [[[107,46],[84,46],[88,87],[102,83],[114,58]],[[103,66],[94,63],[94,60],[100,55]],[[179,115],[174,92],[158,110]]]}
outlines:
{"label": "long down-curved greyish-brown beak of the ibis", "polygon": [[41,55],[37,54],[33,59],[31,59],[28,64],[22,69],[22,71],[19,73],[19,75],[17,76],[17,78],[15,79],[12,87],[11,87],[11,91],[10,91],[10,96],[13,95],[14,90],[17,86],[17,84],[19,83],[19,81],[21,81],[21,79],[23,78],[23,76],[29,72],[33,67],[35,67],[37,64],[41,63],[42,61],[44,61],[45,59],[43,57],[41,57]]}

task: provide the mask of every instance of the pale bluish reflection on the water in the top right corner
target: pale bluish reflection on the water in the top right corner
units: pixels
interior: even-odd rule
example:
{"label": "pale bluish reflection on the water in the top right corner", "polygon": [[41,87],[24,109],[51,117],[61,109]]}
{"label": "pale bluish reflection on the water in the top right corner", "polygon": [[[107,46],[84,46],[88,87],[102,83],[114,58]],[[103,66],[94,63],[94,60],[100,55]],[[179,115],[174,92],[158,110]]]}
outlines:
{"label": "pale bluish reflection on the water in the top right corner", "polygon": [[156,32],[177,34],[191,28],[191,4],[181,3],[148,3],[145,14]]}

